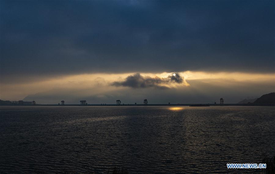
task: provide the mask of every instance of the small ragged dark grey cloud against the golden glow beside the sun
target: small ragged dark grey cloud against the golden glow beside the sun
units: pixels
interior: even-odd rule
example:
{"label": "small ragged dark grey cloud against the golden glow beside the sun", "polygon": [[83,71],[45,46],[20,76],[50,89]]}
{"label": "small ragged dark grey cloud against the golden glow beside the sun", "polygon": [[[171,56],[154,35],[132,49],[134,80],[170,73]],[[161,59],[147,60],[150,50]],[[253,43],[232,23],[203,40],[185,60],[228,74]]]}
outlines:
{"label": "small ragged dark grey cloud against the golden glow beside the sun", "polygon": [[163,86],[163,84],[171,84],[171,83],[183,83],[183,77],[178,73],[175,73],[175,76],[171,75],[167,78],[160,77],[149,77],[149,76],[141,76],[140,73],[136,73],[134,75],[128,76],[124,81],[114,82],[113,86],[123,86],[123,87],[132,87],[132,88],[149,88],[154,87],[157,89],[169,89],[167,86]]}

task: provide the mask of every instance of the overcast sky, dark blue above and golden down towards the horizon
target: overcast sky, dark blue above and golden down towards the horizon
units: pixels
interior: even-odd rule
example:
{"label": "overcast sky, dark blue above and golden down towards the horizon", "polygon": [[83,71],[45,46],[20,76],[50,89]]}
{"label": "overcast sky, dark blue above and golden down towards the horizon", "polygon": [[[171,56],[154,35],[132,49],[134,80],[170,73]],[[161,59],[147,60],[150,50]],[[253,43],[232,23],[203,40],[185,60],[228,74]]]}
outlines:
{"label": "overcast sky, dark blue above and golden down towards the horizon", "polygon": [[[112,84],[122,84],[127,76],[136,73],[144,73],[142,76],[148,80],[178,72],[189,90],[196,86],[190,83],[192,80],[204,79],[200,80],[202,83],[212,79],[213,73],[238,73],[224,78],[243,87],[251,87],[253,79],[251,91],[240,92],[245,94],[236,95],[237,99],[228,94],[232,102],[274,91],[274,1],[1,1],[0,8],[1,99],[46,95],[69,82],[79,83],[70,77],[82,74],[106,82],[106,89],[100,94],[82,94],[94,101],[100,101],[96,96],[107,93],[114,98],[126,95],[132,87]],[[191,72],[189,81],[184,76],[187,71]],[[167,77],[159,77],[164,72]],[[192,72],[196,78],[190,79]],[[199,78],[198,72],[208,75]],[[266,75],[261,78],[266,81],[259,82],[253,74]],[[238,80],[240,76],[242,80]],[[86,79],[82,84],[88,88],[95,82],[87,83]],[[224,82],[211,81],[216,90],[223,91],[217,85],[220,83]],[[182,87],[177,85],[168,84],[170,90],[158,93],[163,98],[153,99],[154,95],[151,101],[167,101],[169,96],[178,95],[184,98],[187,94],[183,91],[187,90],[178,92]],[[196,88],[203,91],[202,85]],[[72,92],[76,90],[80,89],[75,87],[69,93],[76,94]],[[142,94],[152,94],[150,90],[148,87]],[[157,93],[161,89],[154,90]],[[225,91],[226,95],[228,90]],[[205,93],[194,92],[189,98],[202,98]],[[41,97],[37,100],[46,102]]]}

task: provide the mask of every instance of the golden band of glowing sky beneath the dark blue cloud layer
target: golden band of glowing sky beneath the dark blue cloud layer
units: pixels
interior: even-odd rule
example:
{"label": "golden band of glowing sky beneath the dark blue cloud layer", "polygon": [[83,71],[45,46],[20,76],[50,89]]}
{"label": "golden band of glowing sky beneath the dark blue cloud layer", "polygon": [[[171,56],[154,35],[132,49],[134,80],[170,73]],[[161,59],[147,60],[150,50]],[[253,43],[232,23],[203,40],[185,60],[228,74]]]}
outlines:
{"label": "golden band of glowing sky beneath the dark blue cloud layer", "polygon": [[[173,75],[174,72],[163,73],[140,73],[142,76],[167,78]],[[191,81],[200,81],[202,83],[211,83],[215,86],[233,85],[233,82],[253,83],[259,85],[270,84],[274,85],[274,73],[228,73],[228,72],[194,72],[185,71],[178,72],[186,83],[171,83],[165,84],[169,88],[187,89],[194,88],[201,93],[206,93],[202,86],[192,86]],[[54,78],[42,78],[39,80],[29,81],[27,83],[1,83],[1,99],[5,100],[21,100],[29,94],[46,92],[52,89],[70,89],[75,90],[82,96],[85,95],[102,95],[106,92],[117,91],[118,89],[129,87],[116,87],[111,84],[115,81],[125,80],[129,75],[134,73],[93,73],[93,74],[76,74],[68,76],[57,76]],[[220,83],[223,81],[223,83]],[[227,82],[227,83],[226,83]],[[87,93],[87,91],[89,91]],[[272,92],[272,91],[271,91]]]}

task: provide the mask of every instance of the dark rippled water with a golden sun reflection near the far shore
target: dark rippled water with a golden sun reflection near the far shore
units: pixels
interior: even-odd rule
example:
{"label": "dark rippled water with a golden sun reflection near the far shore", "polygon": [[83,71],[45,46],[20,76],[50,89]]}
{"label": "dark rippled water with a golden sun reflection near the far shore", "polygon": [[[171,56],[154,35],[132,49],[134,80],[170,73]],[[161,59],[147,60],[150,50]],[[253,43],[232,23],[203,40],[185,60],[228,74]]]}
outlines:
{"label": "dark rippled water with a golden sun reflection near the far shore", "polygon": [[226,163],[275,155],[275,108],[264,106],[5,106],[0,173],[240,173]]}

